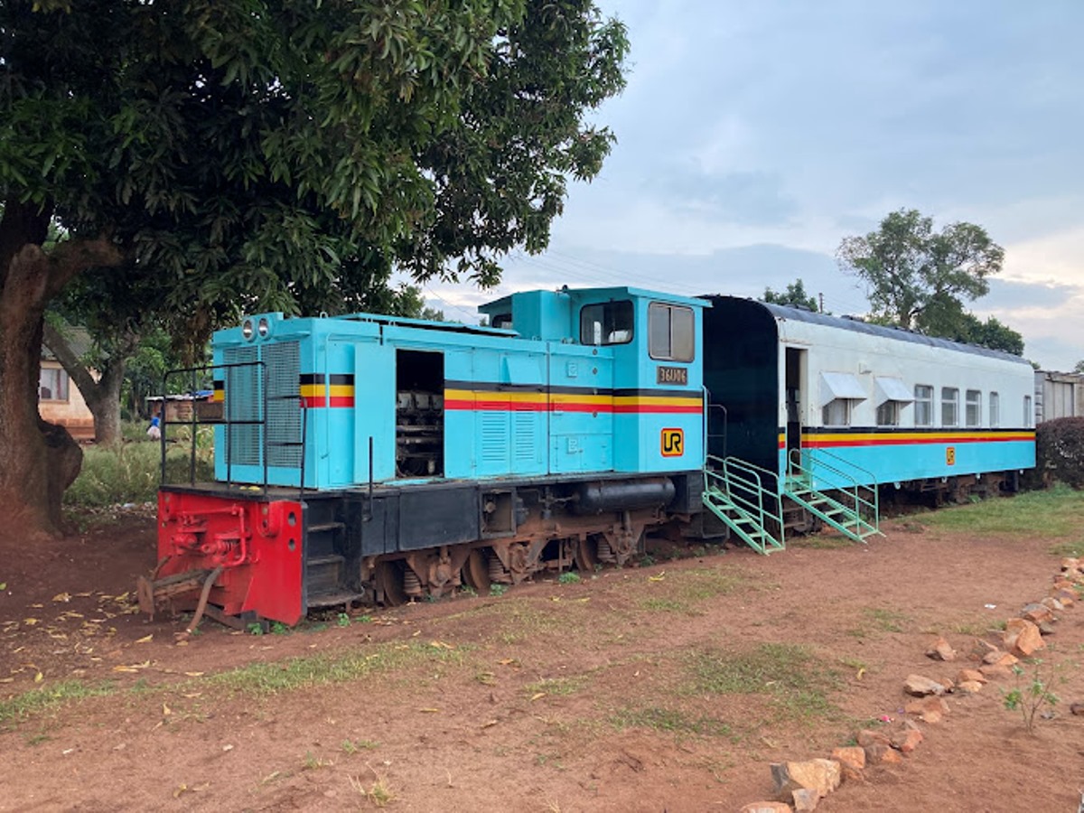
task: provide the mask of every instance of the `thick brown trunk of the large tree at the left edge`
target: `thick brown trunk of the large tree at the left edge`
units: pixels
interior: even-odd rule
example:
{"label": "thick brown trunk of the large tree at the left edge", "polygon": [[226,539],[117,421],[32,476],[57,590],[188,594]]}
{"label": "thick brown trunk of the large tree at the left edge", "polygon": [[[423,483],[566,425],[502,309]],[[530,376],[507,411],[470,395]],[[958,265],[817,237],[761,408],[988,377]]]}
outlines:
{"label": "thick brown trunk of the large tree at the left edge", "polygon": [[79,271],[119,261],[105,240],[41,249],[49,211],[5,202],[0,220],[0,516],[4,528],[59,533],[64,490],[82,452],[38,415],[46,305]]}

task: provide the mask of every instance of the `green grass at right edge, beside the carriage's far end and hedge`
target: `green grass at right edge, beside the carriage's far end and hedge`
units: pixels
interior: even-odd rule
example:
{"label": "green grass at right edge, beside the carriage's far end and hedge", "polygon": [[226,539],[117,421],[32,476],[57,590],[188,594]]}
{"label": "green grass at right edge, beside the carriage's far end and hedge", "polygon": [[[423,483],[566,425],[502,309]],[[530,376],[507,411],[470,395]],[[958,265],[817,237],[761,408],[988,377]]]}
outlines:
{"label": "green grass at right edge, beside the carriage's far end and hedge", "polygon": [[1045,491],[945,507],[924,515],[919,521],[929,528],[972,534],[1042,534],[1051,541],[1084,546],[1081,516],[1084,516],[1084,491],[1058,483]]}

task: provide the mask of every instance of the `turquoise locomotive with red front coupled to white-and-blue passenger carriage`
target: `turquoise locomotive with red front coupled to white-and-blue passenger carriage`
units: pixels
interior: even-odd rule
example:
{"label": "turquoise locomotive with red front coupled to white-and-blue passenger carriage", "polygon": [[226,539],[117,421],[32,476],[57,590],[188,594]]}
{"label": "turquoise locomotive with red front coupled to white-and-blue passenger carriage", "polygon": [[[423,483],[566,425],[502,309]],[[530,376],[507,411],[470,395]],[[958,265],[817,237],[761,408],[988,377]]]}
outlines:
{"label": "turquoise locomotive with red front coupled to white-and-blue passenger carriage", "polygon": [[1002,490],[1034,465],[1031,366],[1006,353],[633,287],[479,310],[216,333],[215,480],[163,485],[141,605],[294,624],[620,565],[649,531],[862,540],[886,489]]}

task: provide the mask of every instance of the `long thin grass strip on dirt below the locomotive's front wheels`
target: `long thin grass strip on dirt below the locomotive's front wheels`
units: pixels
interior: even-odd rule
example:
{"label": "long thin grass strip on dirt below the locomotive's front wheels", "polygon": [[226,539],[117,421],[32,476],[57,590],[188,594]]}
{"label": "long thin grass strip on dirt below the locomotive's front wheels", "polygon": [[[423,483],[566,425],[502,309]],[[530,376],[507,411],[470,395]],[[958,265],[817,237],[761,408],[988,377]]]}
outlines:
{"label": "long thin grass strip on dirt below the locomotive's front wheels", "polygon": [[249,663],[238,669],[201,679],[201,686],[214,685],[247,695],[274,695],[310,686],[349,683],[382,672],[406,669],[416,663],[460,663],[463,649],[434,647],[421,642],[385,644],[366,648],[365,654],[313,655],[273,663]]}

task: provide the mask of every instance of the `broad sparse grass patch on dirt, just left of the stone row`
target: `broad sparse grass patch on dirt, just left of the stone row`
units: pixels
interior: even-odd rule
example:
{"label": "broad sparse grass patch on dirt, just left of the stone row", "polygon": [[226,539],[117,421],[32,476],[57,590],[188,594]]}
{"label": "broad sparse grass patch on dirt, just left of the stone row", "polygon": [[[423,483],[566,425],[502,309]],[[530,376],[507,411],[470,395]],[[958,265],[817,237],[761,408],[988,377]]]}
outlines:
{"label": "broad sparse grass patch on dirt, just left of the stone row", "polygon": [[765,695],[784,719],[811,721],[837,712],[828,695],[837,686],[838,675],[797,644],[765,643],[745,651],[697,653],[689,672],[694,693]]}

